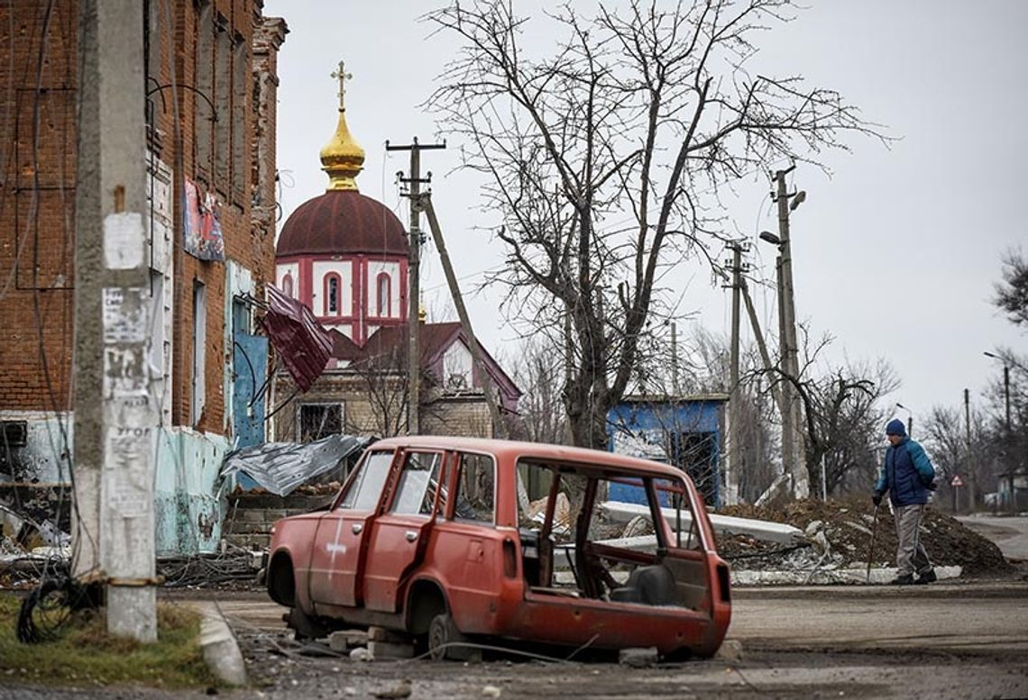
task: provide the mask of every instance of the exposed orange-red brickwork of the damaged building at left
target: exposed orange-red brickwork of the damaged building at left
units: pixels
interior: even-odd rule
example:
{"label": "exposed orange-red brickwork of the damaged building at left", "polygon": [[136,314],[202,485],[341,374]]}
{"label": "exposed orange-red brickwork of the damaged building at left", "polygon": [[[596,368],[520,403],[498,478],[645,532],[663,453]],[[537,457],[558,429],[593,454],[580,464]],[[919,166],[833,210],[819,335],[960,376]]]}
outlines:
{"label": "exposed orange-red brickwork of the damaged building at left", "polygon": [[[144,0],[141,0],[144,1]],[[74,0],[0,4],[0,411],[68,407],[74,293],[77,8]],[[182,246],[183,181],[217,198],[225,256],[252,272],[257,295],[274,274],[276,54],[282,20],[264,17],[260,0],[146,2],[150,148],[172,168],[174,341],[172,421],[189,421],[192,289],[207,288],[206,409],[196,425],[223,432],[226,264]],[[49,9],[47,9],[49,7]],[[209,8],[206,10],[205,8]],[[210,22],[205,20],[209,17]],[[205,166],[197,159],[205,68],[201,32],[227,36],[227,62],[210,56],[212,103],[227,108]],[[245,62],[234,66],[233,62]],[[227,75],[223,69],[227,67]],[[235,79],[235,85],[232,79]],[[242,80],[241,80],[242,79]],[[240,84],[240,83],[243,84]],[[146,109],[140,95],[140,109]],[[203,126],[203,125],[200,125]],[[203,131],[203,129],[201,129]],[[229,140],[224,144],[224,137]],[[221,149],[227,159],[219,159]],[[218,167],[218,165],[222,165]]]}

